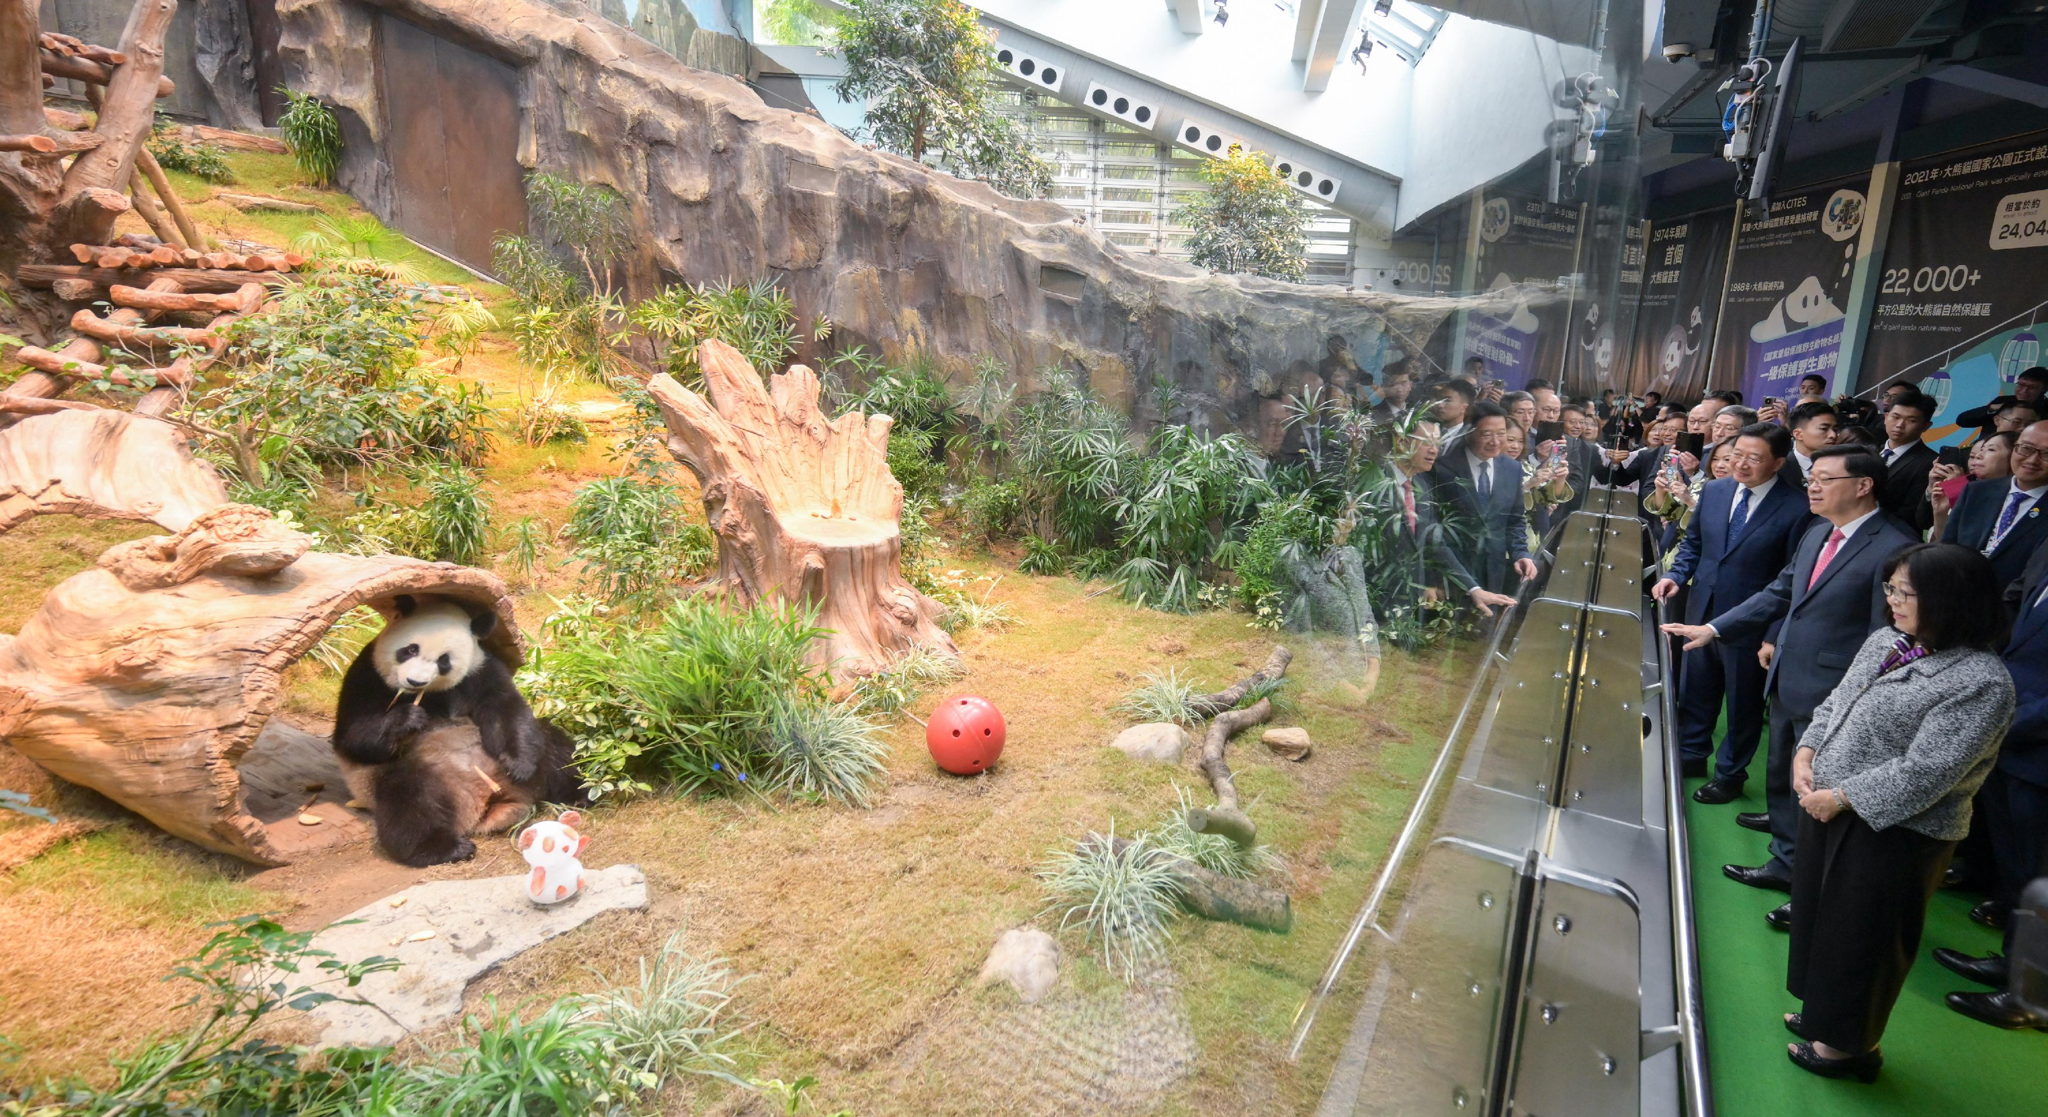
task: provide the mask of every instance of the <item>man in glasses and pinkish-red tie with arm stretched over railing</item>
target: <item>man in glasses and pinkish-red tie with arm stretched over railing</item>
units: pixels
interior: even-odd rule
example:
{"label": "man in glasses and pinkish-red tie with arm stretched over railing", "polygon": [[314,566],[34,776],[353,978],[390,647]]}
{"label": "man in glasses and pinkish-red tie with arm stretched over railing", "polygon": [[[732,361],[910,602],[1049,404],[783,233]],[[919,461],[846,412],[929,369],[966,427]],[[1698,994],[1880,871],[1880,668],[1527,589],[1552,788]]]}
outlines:
{"label": "man in glasses and pinkish-red tie with arm stretched over railing", "polygon": [[[1772,745],[1763,761],[1763,802],[1769,810],[1737,814],[1735,820],[1767,831],[1772,857],[1757,867],[1722,867],[1743,884],[1792,886],[1800,818],[1798,796],[1792,794],[1798,739],[1864,638],[1890,620],[1884,610],[1884,561],[1919,542],[1911,526],[1878,507],[1882,483],[1884,462],[1864,446],[1817,450],[1808,466],[1806,507],[1819,520],[1806,526],[1792,563],[1767,587],[1706,624],[1665,624],[1665,632],[1688,640],[1688,651],[1712,640],[1763,640],[1757,663],[1767,667],[1763,694],[1772,700]],[[1772,925],[1790,929],[1790,912],[1772,912]]]}

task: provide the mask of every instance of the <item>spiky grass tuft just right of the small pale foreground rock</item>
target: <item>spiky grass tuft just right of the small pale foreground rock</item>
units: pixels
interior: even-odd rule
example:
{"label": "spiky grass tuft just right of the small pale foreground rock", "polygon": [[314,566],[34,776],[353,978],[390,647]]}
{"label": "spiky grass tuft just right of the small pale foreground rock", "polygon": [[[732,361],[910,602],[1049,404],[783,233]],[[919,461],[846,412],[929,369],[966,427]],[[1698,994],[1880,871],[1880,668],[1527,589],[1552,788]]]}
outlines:
{"label": "spiky grass tuft just right of the small pale foreground rock", "polygon": [[1112,820],[1108,835],[1055,849],[1038,880],[1051,894],[1047,912],[1059,912],[1059,927],[1079,927],[1102,964],[1126,982],[1163,955],[1178,884],[1169,857],[1149,837],[1118,843]]}

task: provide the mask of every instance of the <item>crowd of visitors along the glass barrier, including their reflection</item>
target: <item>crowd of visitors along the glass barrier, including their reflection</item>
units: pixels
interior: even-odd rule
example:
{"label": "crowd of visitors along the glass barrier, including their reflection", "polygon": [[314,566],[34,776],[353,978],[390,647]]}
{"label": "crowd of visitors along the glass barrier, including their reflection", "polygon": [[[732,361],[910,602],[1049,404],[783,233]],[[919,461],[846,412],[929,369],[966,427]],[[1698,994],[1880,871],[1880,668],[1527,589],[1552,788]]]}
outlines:
{"label": "crowd of visitors along the glass barrier, including their reflection", "polygon": [[1722,872],[1788,894],[1765,921],[1790,933],[1794,1064],[1876,1078],[1937,888],[1982,894],[1970,919],[2007,935],[1933,951],[1972,986],[1948,1004],[2048,1031],[2009,988],[2011,912],[2048,876],[2048,368],[1942,450],[1911,383],[1829,401],[1808,376],[1749,407],[1503,391],[1483,366],[1415,385],[1397,364],[1378,389],[1423,597],[1491,616],[1593,487],[1640,497],[1694,800],[1741,800],[1763,751],[1765,810],[1733,822],[1767,853]]}

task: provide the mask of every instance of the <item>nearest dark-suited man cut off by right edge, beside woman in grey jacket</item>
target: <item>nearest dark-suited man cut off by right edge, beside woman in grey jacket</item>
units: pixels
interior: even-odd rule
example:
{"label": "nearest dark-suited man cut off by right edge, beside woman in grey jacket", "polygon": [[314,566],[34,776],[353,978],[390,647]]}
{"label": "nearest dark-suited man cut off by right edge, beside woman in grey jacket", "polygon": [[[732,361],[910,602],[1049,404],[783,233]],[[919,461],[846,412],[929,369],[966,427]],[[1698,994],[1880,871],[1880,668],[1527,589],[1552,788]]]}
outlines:
{"label": "nearest dark-suited man cut off by right edge, beside woman in grey jacket", "polygon": [[[2036,423],[2028,432],[2042,426],[2048,423]],[[2019,610],[2003,657],[2019,702],[1999,747],[1999,765],[1991,769],[1976,802],[1985,806],[1985,829],[1999,865],[1995,898],[2013,904],[2028,882],[2048,876],[2048,546],[2028,561],[2017,593],[2007,589],[2007,601]],[[1944,947],[1933,951],[1933,959],[1972,982],[2009,986],[2007,957],[2013,953],[2017,925],[2017,919],[2005,923],[2005,953],[1970,957]],[[2048,1029],[2048,1017],[2028,1011],[2013,988],[1952,992],[1948,1007],[1995,1027]]]}

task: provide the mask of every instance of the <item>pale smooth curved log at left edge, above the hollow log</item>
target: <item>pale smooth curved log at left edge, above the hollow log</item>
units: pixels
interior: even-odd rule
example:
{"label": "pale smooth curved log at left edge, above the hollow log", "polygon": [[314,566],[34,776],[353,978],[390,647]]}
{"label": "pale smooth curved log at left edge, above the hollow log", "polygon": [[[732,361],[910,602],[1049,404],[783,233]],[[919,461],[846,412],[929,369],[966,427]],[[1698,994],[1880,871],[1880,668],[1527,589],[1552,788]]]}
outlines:
{"label": "pale smooth curved log at left edge, above the hollow log", "polygon": [[57,511],[182,532],[223,503],[221,477],[193,456],[178,428],[158,419],[53,409],[0,430],[0,532]]}

